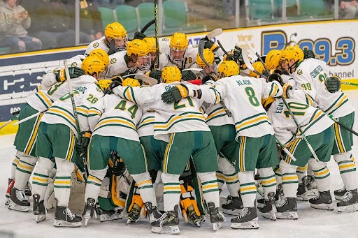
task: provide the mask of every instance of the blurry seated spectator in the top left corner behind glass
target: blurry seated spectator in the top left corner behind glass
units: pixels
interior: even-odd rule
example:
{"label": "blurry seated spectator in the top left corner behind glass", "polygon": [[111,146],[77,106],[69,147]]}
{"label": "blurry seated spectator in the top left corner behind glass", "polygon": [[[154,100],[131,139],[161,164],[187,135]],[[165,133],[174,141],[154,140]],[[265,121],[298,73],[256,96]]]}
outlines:
{"label": "blurry seated spectator in the top left corner behind glass", "polygon": [[27,35],[29,13],[16,1],[3,0],[0,6],[0,46],[10,47],[12,52],[41,50],[41,40]]}

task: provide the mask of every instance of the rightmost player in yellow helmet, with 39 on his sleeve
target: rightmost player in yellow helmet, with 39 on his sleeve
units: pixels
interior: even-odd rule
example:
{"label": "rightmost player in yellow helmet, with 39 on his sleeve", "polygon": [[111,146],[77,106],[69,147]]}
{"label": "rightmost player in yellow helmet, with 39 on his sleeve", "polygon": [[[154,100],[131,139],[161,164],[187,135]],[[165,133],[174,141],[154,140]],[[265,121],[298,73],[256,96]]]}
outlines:
{"label": "rightmost player in yellow helmet, with 39 on his sleeve", "polygon": [[[354,107],[348,96],[340,90],[341,81],[338,77],[329,77],[327,64],[319,59],[305,59],[298,46],[289,46],[281,52],[280,67],[286,70],[293,80],[289,84],[295,89],[302,89],[313,98],[318,107],[331,117],[352,128],[355,121]],[[357,211],[358,193],[356,168],[352,154],[352,133],[334,124],[335,144],[333,156],[341,173],[343,184],[348,193],[346,199],[338,202],[338,211]]]}

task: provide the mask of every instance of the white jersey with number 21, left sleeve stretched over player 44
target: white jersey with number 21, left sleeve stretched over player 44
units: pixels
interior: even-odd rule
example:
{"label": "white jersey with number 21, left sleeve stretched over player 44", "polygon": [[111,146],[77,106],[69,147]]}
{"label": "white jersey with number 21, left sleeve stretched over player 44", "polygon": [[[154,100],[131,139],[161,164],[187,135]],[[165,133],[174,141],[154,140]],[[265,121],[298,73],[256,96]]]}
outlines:
{"label": "white jersey with number 21, left sleeve stretched over player 44", "polygon": [[[113,92],[137,105],[155,110],[154,136],[157,140],[167,141],[169,133],[210,131],[200,112],[203,99],[188,97],[173,104],[162,102],[161,95],[178,83],[156,84],[153,87],[116,87]],[[194,86],[191,84],[191,87]]]}

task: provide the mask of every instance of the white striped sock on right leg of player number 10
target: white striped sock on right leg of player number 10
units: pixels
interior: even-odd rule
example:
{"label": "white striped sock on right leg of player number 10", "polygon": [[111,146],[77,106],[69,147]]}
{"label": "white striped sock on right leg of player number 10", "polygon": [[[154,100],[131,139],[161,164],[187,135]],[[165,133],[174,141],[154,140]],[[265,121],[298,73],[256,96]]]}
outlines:
{"label": "white striped sock on right leg of player number 10", "polygon": [[326,166],[326,163],[322,161],[316,161],[314,158],[310,158],[308,163],[310,165],[310,168],[312,168],[313,170],[313,175],[315,176],[318,191],[329,191],[330,173],[329,169]]}

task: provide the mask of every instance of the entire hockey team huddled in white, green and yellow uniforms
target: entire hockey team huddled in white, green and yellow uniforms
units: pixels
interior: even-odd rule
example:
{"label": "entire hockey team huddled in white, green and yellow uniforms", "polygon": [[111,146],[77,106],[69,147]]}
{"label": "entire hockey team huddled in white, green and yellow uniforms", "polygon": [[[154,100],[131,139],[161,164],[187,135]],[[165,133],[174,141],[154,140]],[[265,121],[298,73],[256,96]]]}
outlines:
{"label": "entire hockey team huddled in white, green and yellow uniforms", "polygon": [[333,155],[338,212],[357,211],[355,112],[341,79],[298,45],[250,66],[240,47],[201,41],[175,33],[157,44],[140,32],[129,41],[114,22],[85,55],[43,75],[20,111],[8,208],[29,211],[32,195],[36,222],[56,207],[55,227],[79,227],[69,209],[76,174],[85,225],[148,216],[152,232],[179,234],[181,212],[192,225],[210,218],[213,230],[223,213],[231,228],[257,229],[257,209],[271,220],[297,219],[296,200],[334,210]]}

